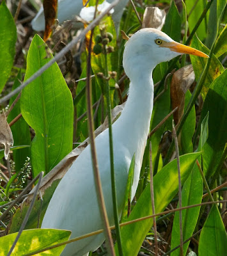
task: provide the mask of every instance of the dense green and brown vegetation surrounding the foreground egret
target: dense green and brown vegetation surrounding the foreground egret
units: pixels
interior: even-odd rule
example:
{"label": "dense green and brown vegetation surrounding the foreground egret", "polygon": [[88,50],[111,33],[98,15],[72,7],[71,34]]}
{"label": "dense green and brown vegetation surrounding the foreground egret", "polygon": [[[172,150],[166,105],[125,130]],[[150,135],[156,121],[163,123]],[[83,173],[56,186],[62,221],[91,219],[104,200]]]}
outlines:
{"label": "dense green and brown vegetation surrounding the foreground egret", "polygon": [[[105,129],[109,106],[127,100],[129,79],[122,67],[126,41],[117,36],[111,16],[106,16],[85,40],[81,34],[80,43],[75,39],[75,20],[65,22],[64,30],[57,25],[48,28],[52,36],[45,43],[42,33],[32,31],[31,19],[25,19],[27,10],[38,9],[36,3],[30,0],[16,12],[15,2],[11,7],[4,1],[0,5],[0,142],[4,145],[0,150],[0,255],[10,255],[10,250],[11,255],[60,255],[70,232],[42,230],[40,223],[59,180],[86,147],[80,144],[89,136],[88,124],[93,120],[95,129],[102,124],[100,129]],[[118,241],[115,253],[122,255],[121,243],[125,256],[226,255],[226,1],[136,0],[134,4],[137,14],[129,2],[121,19],[120,29],[126,35],[141,28],[147,6],[156,6],[167,13],[162,31],[210,58],[182,56],[160,63],[153,72],[151,133],[136,197],[129,205],[132,159],[121,240],[112,231],[114,242]],[[51,31],[46,29],[45,39]],[[71,45],[71,50],[61,54],[65,45]],[[51,60],[51,67],[40,72]],[[88,118],[86,81],[90,79],[86,77],[90,76],[93,116]],[[22,81],[28,85],[21,91]],[[120,111],[115,108],[112,115],[116,119]],[[43,180],[43,175],[48,178]],[[33,184],[35,192],[26,196]],[[104,244],[92,255],[106,253]]]}

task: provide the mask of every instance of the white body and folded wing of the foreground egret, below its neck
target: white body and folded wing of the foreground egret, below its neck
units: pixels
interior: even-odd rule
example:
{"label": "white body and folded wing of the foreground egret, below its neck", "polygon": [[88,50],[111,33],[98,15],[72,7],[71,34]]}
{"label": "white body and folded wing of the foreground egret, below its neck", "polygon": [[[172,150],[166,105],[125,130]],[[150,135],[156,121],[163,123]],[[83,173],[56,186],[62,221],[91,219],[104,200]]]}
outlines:
{"label": "white body and folded wing of the foreground egret, below its neck", "polygon": [[[107,214],[109,222],[113,225],[109,141],[105,140],[104,137],[105,135],[102,134],[100,140],[98,138],[96,140],[97,155]],[[120,156],[116,156],[116,154]],[[114,154],[116,159],[118,159],[118,163],[115,163],[116,189],[119,212],[121,212],[127,183],[127,168],[130,161],[125,161],[125,156],[121,150],[118,150],[116,154]],[[77,158],[61,182],[59,182],[58,188],[54,192],[43,218],[42,228],[72,230],[72,238],[103,227],[91,166],[91,152],[90,146],[88,146]],[[98,248],[103,240],[103,235],[88,237],[82,241],[69,244],[64,252],[75,251],[80,252],[78,255],[82,255],[89,250]]]}

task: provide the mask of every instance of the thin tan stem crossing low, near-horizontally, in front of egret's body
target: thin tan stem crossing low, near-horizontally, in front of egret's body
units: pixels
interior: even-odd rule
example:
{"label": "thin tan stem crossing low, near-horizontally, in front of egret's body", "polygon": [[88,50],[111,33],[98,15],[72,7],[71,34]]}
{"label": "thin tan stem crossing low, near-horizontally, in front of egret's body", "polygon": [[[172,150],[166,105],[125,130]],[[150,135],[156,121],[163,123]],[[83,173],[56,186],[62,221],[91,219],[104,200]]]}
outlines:
{"label": "thin tan stem crossing low, near-horizontally, in front of egret's body", "polygon": [[[181,210],[185,210],[185,209],[190,209],[190,208],[193,208],[193,207],[200,207],[201,205],[218,204],[218,203],[224,203],[224,202],[227,202],[227,200],[221,200],[221,201],[215,201],[215,202],[205,202],[205,203],[201,203],[201,204],[188,205],[188,206],[182,207],[182,209],[180,209],[180,208],[172,209],[172,210],[169,210],[169,211],[159,212],[159,213],[156,213],[156,214],[153,214],[153,215],[149,215],[149,216],[145,216],[145,217],[142,217],[142,218],[138,218],[136,220],[127,221],[127,222],[121,223],[120,227],[124,227],[124,226],[130,225],[132,223],[136,223],[138,221],[148,220],[148,219],[160,216],[160,215],[168,214],[170,212],[177,212],[177,211],[181,211]],[[115,226],[111,226],[110,228],[112,230],[112,229],[115,228]],[[49,246],[49,247],[46,247],[46,248],[42,248],[40,250],[36,250],[35,252],[27,253],[24,256],[31,256],[31,255],[35,255],[35,254],[38,254],[38,253],[41,253],[41,252],[45,252],[47,250],[51,250],[51,249],[57,248],[59,246],[63,246],[65,244],[69,244],[69,243],[73,243],[75,241],[79,241],[79,240],[84,239],[86,237],[91,237],[91,236],[95,236],[95,235],[101,234],[102,232],[104,232],[104,230],[100,229],[100,230],[91,232],[89,234],[85,234],[85,235],[80,236],[80,237],[75,237],[73,239],[70,239],[68,241],[65,241],[65,242],[62,242],[62,243],[59,243],[59,244],[54,244],[52,246]]]}

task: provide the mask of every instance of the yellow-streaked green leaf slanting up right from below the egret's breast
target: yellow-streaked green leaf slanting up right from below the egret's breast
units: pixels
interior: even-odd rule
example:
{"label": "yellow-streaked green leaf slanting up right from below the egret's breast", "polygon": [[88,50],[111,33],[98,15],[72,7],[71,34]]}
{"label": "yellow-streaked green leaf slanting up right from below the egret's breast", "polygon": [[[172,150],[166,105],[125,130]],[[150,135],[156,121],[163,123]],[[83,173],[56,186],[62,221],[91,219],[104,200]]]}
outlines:
{"label": "yellow-streaked green leaf slanting up right from below the egret's breast", "polygon": [[[182,184],[184,184],[191,172],[199,153],[186,154],[180,156],[180,168]],[[162,212],[178,191],[178,171],[176,159],[166,164],[153,179],[153,189],[155,198],[155,212]],[[152,214],[152,204],[150,198],[150,184],[148,184],[137,201],[128,221],[148,216]],[[139,252],[140,246],[145,239],[148,230],[153,224],[153,218],[139,221],[122,228],[121,241],[124,255],[134,256]],[[130,239],[129,239],[130,237]],[[118,255],[115,245],[116,255]]]}

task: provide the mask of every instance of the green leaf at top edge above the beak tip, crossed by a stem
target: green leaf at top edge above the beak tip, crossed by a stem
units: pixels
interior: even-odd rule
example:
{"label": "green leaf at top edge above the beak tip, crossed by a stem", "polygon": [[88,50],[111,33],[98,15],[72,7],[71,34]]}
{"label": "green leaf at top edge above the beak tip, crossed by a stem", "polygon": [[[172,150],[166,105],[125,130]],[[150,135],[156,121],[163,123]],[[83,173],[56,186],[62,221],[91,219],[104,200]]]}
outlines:
{"label": "green leaf at top edge above the beak tip, crossed by a stem", "polygon": [[[198,20],[200,19],[200,16],[203,13],[203,10],[207,4],[207,1],[198,0],[195,2],[195,1],[191,1],[191,0],[186,0],[185,4],[187,7],[189,31],[191,32],[194,29],[194,27],[196,26],[196,23],[198,22]],[[207,26],[206,26],[205,19],[203,19],[203,21],[201,22],[196,33],[198,34],[200,40],[204,40],[206,38]]]}

